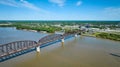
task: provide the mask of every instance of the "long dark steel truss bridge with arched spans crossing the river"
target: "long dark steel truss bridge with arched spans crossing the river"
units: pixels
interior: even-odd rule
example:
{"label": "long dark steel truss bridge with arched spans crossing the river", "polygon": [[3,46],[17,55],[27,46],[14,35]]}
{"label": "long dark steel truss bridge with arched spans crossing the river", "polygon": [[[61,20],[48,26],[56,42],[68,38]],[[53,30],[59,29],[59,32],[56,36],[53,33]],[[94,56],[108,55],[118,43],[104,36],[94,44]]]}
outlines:
{"label": "long dark steel truss bridge with arched spans crossing the river", "polygon": [[[38,42],[31,40],[15,41],[8,44],[0,45],[0,62],[6,58],[15,56],[16,54],[24,53],[25,50],[40,48],[40,46],[64,39],[68,36],[74,36],[74,34],[52,34],[41,38]],[[39,51],[39,49],[38,49]]]}

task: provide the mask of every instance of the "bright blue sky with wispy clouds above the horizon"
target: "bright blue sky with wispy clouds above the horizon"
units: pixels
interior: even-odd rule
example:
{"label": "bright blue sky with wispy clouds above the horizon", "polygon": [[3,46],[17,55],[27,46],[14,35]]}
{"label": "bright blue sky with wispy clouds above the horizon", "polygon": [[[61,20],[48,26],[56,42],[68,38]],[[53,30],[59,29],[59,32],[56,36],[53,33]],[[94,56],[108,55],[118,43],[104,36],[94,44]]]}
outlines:
{"label": "bright blue sky with wispy clouds above the horizon", "polygon": [[0,20],[120,20],[120,0],[0,0]]}

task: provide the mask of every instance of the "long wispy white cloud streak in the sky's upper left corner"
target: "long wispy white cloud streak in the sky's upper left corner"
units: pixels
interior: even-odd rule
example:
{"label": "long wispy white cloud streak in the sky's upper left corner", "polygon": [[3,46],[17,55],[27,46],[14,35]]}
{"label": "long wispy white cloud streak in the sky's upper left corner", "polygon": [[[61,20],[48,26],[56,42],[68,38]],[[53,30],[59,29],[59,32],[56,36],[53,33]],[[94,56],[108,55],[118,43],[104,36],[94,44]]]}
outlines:
{"label": "long wispy white cloud streak in the sky's upper left corner", "polygon": [[0,4],[12,7],[25,7],[37,11],[41,10],[40,8],[26,0],[0,0]]}

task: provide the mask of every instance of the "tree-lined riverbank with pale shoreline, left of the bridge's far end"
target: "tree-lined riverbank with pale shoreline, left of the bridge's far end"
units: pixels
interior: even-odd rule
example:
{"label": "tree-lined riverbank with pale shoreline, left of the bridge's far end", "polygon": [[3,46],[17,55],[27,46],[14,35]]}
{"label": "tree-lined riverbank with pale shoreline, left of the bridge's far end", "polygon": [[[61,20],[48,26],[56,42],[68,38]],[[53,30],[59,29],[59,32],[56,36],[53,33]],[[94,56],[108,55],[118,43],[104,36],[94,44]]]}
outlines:
{"label": "tree-lined riverbank with pale shoreline, left of the bridge's far end", "polygon": [[43,33],[54,33],[55,31],[62,30],[60,27],[54,26],[41,26],[32,24],[11,24],[11,25],[0,25],[0,27],[16,27],[18,30],[27,30],[32,32],[43,32]]}

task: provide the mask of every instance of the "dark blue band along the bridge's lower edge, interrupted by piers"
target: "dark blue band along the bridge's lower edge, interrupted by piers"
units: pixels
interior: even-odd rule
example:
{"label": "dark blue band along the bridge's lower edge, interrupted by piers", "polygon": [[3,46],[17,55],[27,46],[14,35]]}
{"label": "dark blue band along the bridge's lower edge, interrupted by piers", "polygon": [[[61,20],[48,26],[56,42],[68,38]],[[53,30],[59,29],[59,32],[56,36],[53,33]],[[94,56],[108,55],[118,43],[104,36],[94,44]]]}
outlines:
{"label": "dark blue band along the bridge's lower edge, interrupted by piers", "polygon": [[[65,40],[66,40],[66,39],[69,39],[69,38],[71,38],[71,37],[73,37],[73,36],[67,36],[67,37],[65,38]],[[49,42],[49,43],[47,43],[47,44],[43,44],[43,45],[40,46],[40,48],[44,48],[44,47],[47,47],[47,46],[49,46],[49,45],[52,45],[52,44],[55,44],[55,43],[58,43],[58,42],[61,42],[61,40],[56,40],[56,41],[53,41],[53,42]],[[36,50],[36,48],[34,47],[34,48],[31,48],[31,49],[23,50],[23,51],[20,51],[20,52],[17,52],[17,53],[14,53],[14,54],[11,54],[11,55],[2,57],[2,58],[0,58],[0,62],[4,62],[4,61],[6,61],[6,60],[9,60],[9,59],[18,57],[18,56],[20,56],[20,55],[24,55],[24,54],[26,54],[26,53],[29,53],[29,52],[32,52],[32,51],[35,51],[35,50]]]}

